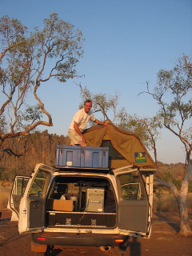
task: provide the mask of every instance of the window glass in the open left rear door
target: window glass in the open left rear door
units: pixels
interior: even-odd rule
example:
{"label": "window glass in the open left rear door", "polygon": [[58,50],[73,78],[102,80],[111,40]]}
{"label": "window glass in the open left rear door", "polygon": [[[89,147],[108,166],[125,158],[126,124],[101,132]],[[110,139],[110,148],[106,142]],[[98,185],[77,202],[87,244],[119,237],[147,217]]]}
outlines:
{"label": "window glass in the open left rear door", "polygon": [[42,196],[42,190],[46,183],[46,171],[39,170],[37,176],[34,178],[34,182],[30,188],[30,196],[40,197]]}

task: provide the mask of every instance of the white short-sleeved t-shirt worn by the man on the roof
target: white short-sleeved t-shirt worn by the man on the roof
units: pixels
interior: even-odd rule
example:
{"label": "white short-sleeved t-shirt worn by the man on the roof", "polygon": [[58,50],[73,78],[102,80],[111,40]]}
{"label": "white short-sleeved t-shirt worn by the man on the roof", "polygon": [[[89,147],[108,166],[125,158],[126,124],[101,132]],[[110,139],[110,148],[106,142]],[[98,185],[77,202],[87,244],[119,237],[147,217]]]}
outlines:
{"label": "white short-sleeved t-shirt worn by the man on the roof", "polygon": [[77,122],[79,130],[82,132],[86,128],[87,122],[89,122],[90,120],[95,121],[94,114],[91,111],[89,113],[86,113],[84,108],[78,110],[74,114],[74,118],[70,123],[69,129],[74,130],[74,122]]}

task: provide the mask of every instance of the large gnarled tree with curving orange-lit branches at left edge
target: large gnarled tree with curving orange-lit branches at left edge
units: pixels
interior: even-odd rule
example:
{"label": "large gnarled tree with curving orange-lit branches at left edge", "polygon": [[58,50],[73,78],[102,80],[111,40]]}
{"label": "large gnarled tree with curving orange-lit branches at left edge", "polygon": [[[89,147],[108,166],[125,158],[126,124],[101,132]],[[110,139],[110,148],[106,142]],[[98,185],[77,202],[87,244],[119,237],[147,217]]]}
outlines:
{"label": "large gnarled tree with curving orange-lit branches at left edge", "polygon": [[[18,19],[0,18],[1,146],[6,138],[28,136],[39,125],[53,126],[38,89],[52,78],[66,82],[77,77],[83,40],[80,30],[55,13],[44,19],[42,30],[32,32]],[[35,106],[26,104],[31,94]]]}

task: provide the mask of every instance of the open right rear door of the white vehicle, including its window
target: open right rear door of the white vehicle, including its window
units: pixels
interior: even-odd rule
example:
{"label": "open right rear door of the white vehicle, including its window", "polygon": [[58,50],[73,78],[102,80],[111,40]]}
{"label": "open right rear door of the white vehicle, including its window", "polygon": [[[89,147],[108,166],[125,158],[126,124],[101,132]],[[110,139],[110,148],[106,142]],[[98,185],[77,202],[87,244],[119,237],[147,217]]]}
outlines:
{"label": "open right rear door of the white vehicle, including its window", "polygon": [[118,229],[122,234],[150,235],[151,206],[146,184],[138,168],[114,170],[118,186]]}

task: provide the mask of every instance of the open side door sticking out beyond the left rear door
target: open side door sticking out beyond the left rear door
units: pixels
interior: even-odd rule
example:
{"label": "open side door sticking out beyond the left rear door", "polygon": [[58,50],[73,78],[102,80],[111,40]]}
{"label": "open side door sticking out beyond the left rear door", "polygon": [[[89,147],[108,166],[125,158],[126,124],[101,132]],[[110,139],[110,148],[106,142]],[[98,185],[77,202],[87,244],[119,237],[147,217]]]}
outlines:
{"label": "open side door sticking out beyond the left rear door", "polygon": [[26,185],[29,182],[29,179],[30,177],[28,176],[16,176],[14,178],[14,184],[12,186],[10,198],[7,204],[7,208],[12,210],[12,216],[16,216],[14,217],[14,220],[18,220],[19,204],[26,190]]}

